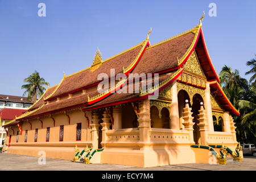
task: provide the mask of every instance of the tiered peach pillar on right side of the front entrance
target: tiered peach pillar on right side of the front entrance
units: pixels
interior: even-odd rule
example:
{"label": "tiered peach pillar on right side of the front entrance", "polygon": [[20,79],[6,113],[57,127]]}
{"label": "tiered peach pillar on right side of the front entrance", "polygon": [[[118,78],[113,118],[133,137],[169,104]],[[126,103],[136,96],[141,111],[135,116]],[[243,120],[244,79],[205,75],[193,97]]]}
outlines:
{"label": "tiered peach pillar on right side of the front entrance", "polygon": [[205,110],[204,110],[204,106],[203,106],[203,102],[200,103],[201,107],[199,110],[199,132],[200,132],[200,143],[204,146],[208,145],[207,142],[207,137],[208,137],[208,131],[209,131],[209,122],[208,122],[208,118],[207,118],[207,114],[205,114]]}

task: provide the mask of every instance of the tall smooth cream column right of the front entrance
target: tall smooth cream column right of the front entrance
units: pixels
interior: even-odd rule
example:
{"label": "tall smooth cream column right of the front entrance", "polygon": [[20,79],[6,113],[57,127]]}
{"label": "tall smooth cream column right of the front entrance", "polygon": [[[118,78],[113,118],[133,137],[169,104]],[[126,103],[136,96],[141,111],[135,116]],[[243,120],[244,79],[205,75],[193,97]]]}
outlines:
{"label": "tall smooth cream column right of the front entrance", "polygon": [[205,98],[204,98],[204,107],[207,115],[208,123],[209,123],[209,131],[214,131],[213,127],[213,119],[212,119],[212,104],[210,101],[210,84],[206,83],[206,88],[204,90]]}

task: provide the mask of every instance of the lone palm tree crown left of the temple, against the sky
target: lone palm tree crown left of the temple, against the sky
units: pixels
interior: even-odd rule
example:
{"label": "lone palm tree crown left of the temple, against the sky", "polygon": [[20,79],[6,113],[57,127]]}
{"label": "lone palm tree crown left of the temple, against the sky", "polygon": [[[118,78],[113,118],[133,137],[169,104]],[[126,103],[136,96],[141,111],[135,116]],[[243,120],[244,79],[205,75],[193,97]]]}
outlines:
{"label": "lone palm tree crown left of the temple, against the sky", "polygon": [[49,85],[44,78],[40,77],[39,72],[37,71],[31,73],[29,77],[25,78],[24,82],[27,82],[28,84],[22,85],[22,89],[26,89],[23,96],[27,94],[28,100],[32,97],[32,102],[35,102],[38,99],[38,95],[39,97],[42,96],[44,90],[46,90],[43,85]]}

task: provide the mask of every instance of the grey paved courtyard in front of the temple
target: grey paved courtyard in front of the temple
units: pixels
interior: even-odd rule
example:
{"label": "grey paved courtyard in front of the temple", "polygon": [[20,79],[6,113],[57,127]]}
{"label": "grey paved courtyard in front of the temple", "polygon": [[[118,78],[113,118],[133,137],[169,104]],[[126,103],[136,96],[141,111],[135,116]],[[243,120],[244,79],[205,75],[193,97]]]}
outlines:
{"label": "grey paved courtyard in front of the temple", "polygon": [[[152,170],[152,171],[225,171],[225,170],[253,170],[256,171],[256,158],[253,156],[245,156],[242,159],[242,163],[230,163],[226,165],[210,165],[210,164],[176,164],[161,167],[130,167],[120,166],[114,164],[83,164],[73,163],[71,160],[63,159],[46,159],[46,164],[38,164],[38,157],[25,156],[25,155],[13,155],[13,154],[0,154],[0,170],[36,170],[36,171],[61,171],[61,170],[75,170],[75,171],[140,171],[140,170]],[[20,165],[22,164],[22,165]]]}

